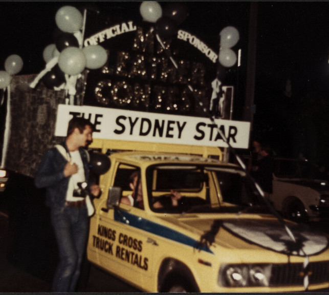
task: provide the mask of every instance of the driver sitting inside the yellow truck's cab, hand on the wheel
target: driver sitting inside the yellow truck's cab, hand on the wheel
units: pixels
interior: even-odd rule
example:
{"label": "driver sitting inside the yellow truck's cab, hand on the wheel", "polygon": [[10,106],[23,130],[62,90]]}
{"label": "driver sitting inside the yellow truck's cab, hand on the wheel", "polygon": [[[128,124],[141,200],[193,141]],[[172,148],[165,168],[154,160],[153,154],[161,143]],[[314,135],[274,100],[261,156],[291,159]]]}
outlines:
{"label": "driver sitting inside the yellow truck's cab, hand on the wheel", "polygon": [[[138,171],[133,172],[129,177],[129,187],[133,194],[128,196],[123,196],[120,200],[120,203],[126,204],[129,206],[136,206],[138,208],[144,208],[143,194],[142,194],[142,184],[140,182],[140,174]],[[136,190],[136,188],[138,189]],[[173,189],[170,190],[171,194],[171,205],[178,206],[178,201],[181,199],[181,194]],[[163,204],[160,201],[153,203],[153,208],[162,208]]]}

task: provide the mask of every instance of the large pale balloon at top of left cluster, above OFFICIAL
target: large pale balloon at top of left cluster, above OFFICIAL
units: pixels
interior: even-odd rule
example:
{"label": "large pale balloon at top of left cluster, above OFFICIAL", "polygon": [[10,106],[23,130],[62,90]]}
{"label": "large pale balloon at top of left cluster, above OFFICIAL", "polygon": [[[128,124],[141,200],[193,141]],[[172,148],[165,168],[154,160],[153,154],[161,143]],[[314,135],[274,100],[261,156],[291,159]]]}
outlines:
{"label": "large pale balloon at top of left cluster, above OFFICIAL", "polygon": [[63,6],[56,12],[55,22],[63,32],[74,33],[82,28],[83,17],[77,8]]}

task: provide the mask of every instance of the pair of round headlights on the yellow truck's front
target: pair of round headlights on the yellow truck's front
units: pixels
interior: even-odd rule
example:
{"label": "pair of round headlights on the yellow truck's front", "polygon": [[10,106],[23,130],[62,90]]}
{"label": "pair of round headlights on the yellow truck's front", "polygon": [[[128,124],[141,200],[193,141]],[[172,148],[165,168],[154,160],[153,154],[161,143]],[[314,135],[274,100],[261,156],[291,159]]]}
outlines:
{"label": "pair of round headlights on the yellow truck's front", "polygon": [[218,285],[225,287],[269,286],[270,264],[227,264],[222,265]]}

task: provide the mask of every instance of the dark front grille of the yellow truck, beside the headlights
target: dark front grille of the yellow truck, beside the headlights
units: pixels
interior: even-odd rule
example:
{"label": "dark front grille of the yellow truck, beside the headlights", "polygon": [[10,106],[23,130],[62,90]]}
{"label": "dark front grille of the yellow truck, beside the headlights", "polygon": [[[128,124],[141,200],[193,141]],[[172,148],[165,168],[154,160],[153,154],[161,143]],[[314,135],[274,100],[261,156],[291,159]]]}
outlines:
{"label": "dark front grille of the yellow truck, beside the headlights", "polygon": [[[309,282],[311,284],[325,283],[329,281],[329,262],[310,262]],[[303,264],[273,264],[270,279],[271,286],[302,285]]]}

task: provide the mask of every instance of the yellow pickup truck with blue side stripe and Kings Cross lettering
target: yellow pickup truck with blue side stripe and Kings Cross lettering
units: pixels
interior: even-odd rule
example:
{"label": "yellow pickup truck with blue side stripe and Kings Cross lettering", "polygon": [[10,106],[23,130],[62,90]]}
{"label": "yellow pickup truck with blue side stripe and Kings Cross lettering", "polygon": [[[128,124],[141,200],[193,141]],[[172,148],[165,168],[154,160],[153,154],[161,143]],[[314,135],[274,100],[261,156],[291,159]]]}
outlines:
{"label": "yellow pickup truck with blue side stripe and Kings Cross lettering", "polygon": [[[94,199],[87,245],[94,265],[146,292],[329,287],[328,238],[272,214],[220,149],[101,139],[90,148],[111,162]],[[133,173],[140,191],[131,188]],[[121,201],[128,196],[135,202]]]}

